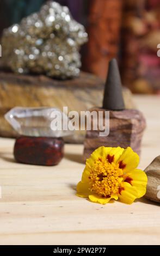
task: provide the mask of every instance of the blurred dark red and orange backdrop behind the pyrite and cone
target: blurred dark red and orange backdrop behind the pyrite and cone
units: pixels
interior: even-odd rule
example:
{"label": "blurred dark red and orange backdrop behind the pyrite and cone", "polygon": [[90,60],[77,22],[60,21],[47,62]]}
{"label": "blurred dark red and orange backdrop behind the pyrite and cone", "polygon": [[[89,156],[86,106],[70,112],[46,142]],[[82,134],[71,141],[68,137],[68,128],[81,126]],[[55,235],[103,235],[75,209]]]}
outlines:
{"label": "blurred dark red and orange backdrop behind the pyrite and cone", "polygon": [[[1,0],[0,33],[38,11],[45,0]],[[57,0],[87,29],[82,70],[106,78],[108,61],[119,60],[122,83],[133,93],[160,94],[159,0]]]}

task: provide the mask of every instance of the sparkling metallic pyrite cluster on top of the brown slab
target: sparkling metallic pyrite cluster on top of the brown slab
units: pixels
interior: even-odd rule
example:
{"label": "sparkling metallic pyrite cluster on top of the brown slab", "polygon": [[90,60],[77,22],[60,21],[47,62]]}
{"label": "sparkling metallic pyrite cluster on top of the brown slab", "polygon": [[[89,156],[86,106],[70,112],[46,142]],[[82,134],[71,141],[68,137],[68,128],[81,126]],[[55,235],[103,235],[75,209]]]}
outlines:
{"label": "sparkling metallic pyrite cluster on top of the brown slab", "polygon": [[19,74],[33,72],[63,79],[78,76],[78,51],[87,39],[83,25],[73,20],[67,7],[47,2],[39,13],[4,30],[3,65]]}

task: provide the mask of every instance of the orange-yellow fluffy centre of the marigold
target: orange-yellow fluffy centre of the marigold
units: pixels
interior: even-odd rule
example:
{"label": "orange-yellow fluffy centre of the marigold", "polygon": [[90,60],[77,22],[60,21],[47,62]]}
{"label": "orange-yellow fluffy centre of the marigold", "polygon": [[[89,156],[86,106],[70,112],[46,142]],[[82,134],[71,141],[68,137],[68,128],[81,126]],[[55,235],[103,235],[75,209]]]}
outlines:
{"label": "orange-yellow fluffy centre of the marigold", "polygon": [[119,168],[119,163],[110,163],[107,159],[96,160],[89,177],[91,191],[103,197],[118,194],[123,174],[122,169]]}

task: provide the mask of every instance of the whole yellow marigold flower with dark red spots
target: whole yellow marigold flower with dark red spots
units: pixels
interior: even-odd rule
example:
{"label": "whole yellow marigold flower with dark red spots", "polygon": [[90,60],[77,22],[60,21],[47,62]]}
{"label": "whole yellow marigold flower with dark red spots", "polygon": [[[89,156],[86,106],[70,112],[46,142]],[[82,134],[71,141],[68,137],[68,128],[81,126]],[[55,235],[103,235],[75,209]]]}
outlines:
{"label": "whole yellow marigold flower with dark red spots", "polygon": [[130,147],[96,149],[86,161],[77,196],[106,204],[110,199],[132,204],[146,193],[147,176],[136,169],[139,156]]}

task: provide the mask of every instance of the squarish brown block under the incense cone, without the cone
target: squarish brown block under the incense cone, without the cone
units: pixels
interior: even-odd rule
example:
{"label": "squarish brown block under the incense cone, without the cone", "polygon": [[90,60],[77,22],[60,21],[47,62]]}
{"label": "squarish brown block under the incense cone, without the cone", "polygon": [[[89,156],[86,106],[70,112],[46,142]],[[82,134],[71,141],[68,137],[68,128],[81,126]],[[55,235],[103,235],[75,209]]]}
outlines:
{"label": "squarish brown block under the incense cone, without the cone", "polygon": [[[107,111],[102,108],[91,109],[96,111]],[[104,115],[105,117],[105,115]],[[93,127],[93,119],[91,120]],[[104,124],[104,118],[103,118]],[[93,153],[93,151],[101,146],[104,147],[131,147],[137,154],[140,154],[141,139],[146,127],[143,114],[136,109],[125,109],[122,111],[109,111],[109,135],[102,137],[100,131],[87,131],[84,140],[85,161]]]}

